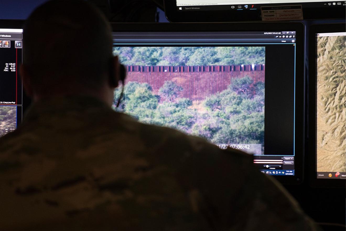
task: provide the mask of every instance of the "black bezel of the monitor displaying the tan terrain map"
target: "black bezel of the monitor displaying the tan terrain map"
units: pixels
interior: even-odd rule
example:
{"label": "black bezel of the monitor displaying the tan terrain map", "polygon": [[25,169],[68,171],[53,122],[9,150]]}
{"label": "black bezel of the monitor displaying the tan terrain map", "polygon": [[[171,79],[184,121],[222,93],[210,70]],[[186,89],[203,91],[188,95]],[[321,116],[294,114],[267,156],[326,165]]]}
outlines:
{"label": "black bezel of the monitor displaying the tan terrain map", "polygon": [[346,181],[343,179],[318,179],[316,163],[316,88],[317,88],[317,33],[345,32],[345,23],[336,24],[314,24],[309,30],[309,114],[308,114],[308,162],[309,162],[309,184],[314,187],[343,187]]}

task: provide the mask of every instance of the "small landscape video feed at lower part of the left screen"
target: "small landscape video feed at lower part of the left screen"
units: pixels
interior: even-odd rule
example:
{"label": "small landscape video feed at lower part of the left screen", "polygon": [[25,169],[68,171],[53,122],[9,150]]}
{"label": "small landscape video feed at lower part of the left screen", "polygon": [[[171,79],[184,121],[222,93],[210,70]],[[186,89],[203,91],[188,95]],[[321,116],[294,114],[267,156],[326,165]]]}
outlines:
{"label": "small landscape video feed at lower part of the left screen", "polygon": [[0,106],[0,136],[17,127],[17,106]]}

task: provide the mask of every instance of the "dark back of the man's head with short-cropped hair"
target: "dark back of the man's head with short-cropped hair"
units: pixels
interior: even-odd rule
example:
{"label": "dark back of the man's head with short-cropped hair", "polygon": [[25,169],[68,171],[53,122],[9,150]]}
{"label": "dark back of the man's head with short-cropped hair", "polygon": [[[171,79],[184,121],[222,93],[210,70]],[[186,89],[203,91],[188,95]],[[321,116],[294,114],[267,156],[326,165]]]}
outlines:
{"label": "dark back of the man's head with short-cropped hair", "polygon": [[[94,95],[108,103],[118,85],[111,30],[102,13],[85,1],[53,0],[27,19],[21,75],[27,94]],[[106,98],[106,99],[105,99]]]}

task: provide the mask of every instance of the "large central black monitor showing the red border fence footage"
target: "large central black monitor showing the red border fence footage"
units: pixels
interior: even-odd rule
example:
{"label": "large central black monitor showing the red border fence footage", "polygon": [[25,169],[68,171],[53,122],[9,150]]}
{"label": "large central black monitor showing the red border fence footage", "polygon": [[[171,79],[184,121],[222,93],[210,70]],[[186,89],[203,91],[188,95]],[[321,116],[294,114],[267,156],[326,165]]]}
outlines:
{"label": "large central black monitor showing the red border fence footage", "polygon": [[127,69],[115,110],[253,154],[283,183],[302,181],[302,24],[112,27],[113,54]]}

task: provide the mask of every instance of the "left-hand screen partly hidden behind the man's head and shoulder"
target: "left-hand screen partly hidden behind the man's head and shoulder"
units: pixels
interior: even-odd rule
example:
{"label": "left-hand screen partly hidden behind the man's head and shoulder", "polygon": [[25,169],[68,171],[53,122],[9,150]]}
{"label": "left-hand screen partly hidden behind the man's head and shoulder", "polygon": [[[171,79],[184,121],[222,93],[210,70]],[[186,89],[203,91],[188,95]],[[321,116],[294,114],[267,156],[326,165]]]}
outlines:
{"label": "left-hand screen partly hidden behind the man's head and shoulder", "polygon": [[15,130],[22,118],[22,32],[0,28],[0,136]]}

